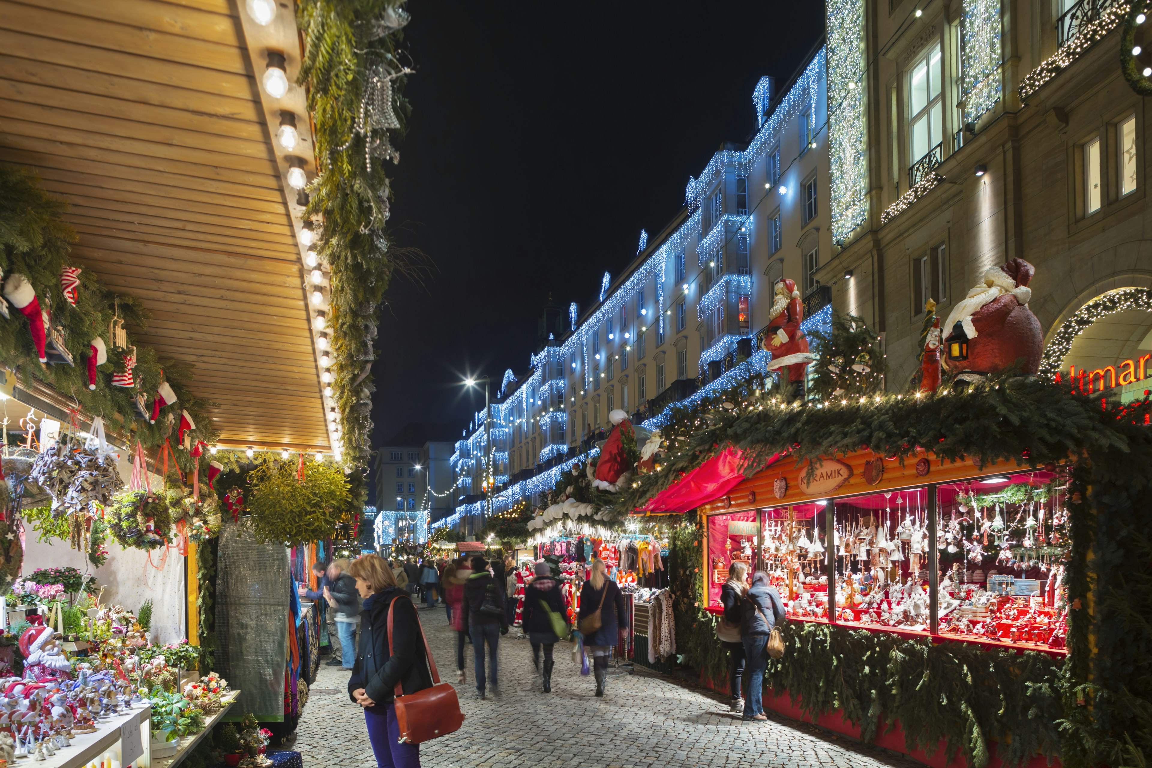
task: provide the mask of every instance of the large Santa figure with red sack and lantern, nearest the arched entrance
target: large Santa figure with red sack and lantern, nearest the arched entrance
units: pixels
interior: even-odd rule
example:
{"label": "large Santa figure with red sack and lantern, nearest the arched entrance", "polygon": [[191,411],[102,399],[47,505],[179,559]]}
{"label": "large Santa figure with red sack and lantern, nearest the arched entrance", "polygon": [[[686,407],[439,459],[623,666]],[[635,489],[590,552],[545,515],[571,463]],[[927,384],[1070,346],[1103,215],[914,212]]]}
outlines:
{"label": "large Santa figure with red sack and lantern, nearest the arched entrance", "polygon": [[953,307],[943,325],[949,371],[961,381],[975,381],[1021,363],[1021,373],[1040,367],[1044,332],[1028,307],[1036,267],[1024,259],[992,267],[980,284]]}

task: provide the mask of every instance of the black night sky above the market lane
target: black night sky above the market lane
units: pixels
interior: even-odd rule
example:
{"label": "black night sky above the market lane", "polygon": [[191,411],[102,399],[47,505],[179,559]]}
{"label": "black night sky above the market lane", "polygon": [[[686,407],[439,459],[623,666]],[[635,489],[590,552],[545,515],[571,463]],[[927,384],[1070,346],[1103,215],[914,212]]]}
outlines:
{"label": "black night sky above the market lane", "polygon": [[484,405],[465,374],[495,397],[506,368],[524,373],[548,294],[590,307],[720,143],[751,137],[756,82],[783,86],[824,32],[818,1],[409,9],[391,223],[433,266],[381,310],[374,446],[408,421],[465,426]]}

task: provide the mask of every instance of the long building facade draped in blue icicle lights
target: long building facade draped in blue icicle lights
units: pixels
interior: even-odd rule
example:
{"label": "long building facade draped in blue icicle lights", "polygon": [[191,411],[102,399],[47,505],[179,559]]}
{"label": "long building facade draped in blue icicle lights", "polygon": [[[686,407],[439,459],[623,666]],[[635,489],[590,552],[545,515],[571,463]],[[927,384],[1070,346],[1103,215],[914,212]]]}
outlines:
{"label": "long building facade draped in blue icicle lights", "polygon": [[748,145],[725,144],[689,180],[684,208],[655,236],[642,234],[620,275],[605,273],[598,302],[583,312],[571,304],[561,333],[554,318],[541,320],[548,334],[526,371],[505,374],[490,411],[455,444],[457,503],[440,524],[473,532],[488,481],[494,512],[537,503],[604,440],[613,410],[654,427],[670,404],[763,370],[779,279],[802,290],[808,327],[827,325],[831,289],[818,276],[832,256],[825,48],[774,85],[765,77],[752,94]]}

